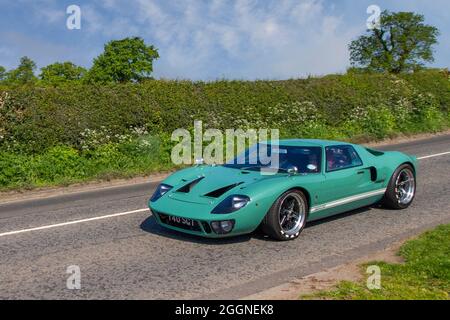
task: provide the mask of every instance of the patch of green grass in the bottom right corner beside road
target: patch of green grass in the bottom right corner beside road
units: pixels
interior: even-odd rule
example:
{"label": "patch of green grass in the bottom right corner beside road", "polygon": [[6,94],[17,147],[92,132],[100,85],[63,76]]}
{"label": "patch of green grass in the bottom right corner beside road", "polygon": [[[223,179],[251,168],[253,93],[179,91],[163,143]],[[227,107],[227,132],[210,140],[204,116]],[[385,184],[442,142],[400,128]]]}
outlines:
{"label": "patch of green grass in the bottom right corner beside road", "polygon": [[[403,264],[371,262],[361,266],[364,279],[342,281],[331,291],[321,291],[301,299],[335,300],[448,300],[450,292],[450,225],[442,225],[406,242],[398,253]],[[381,289],[369,290],[365,270],[381,269]]]}

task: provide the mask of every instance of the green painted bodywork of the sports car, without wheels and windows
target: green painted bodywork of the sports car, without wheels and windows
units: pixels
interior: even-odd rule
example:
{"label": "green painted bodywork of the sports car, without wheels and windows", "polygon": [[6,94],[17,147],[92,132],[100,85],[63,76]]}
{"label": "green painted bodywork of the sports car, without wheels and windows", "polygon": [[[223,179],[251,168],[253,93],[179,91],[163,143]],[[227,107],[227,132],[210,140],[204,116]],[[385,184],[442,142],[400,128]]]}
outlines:
{"label": "green painted bodywork of the sports car, without wheels and windows", "polygon": [[[322,219],[356,208],[374,204],[382,199],[387,184],[394,171],[404,163],[410,163],[417,171],[417,159],[401,152],[383,152],[374,155],[365,147],[339,141],[326,140],[281,140],[280,146],[320,146],[322,148],[322,172],[317,174],[277,173],[262,175],[259,171],[245,171],[223,166],[200,165],[180,170],[163,181],[173,186],[168,193],[155,202],[149,201],[155,213],[189,218],[198,222],[235,220],[233,231],[227,235],[190,231],[163,224],[157,214],[156,220],[164,227],[204,237],[218,238],[235,236],[254,231],[264,216],[284,192],[301,189],[308,198],[308,221]],[[335,145],[354,147],[363,164],[358,167],[327,172],[325,148]],[[372,170],[376,170],[376,180],[372,181]],[[177,192],[187,183],[204,177],[189,193]],[[205,194],[240,183],[219,198],[206,197]],[[211,211],[229,195],[246,195],[251,201],[242,209],[231,214],[212,214]]]}

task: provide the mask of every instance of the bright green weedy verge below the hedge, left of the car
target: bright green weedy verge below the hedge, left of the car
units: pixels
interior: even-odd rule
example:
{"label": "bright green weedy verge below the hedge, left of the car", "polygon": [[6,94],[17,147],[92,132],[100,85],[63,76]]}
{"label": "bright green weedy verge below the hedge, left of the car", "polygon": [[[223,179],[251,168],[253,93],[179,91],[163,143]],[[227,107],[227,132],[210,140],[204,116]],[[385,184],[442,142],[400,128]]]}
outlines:
{"label": "bright green weedy verge below the hedge, left of the car", "polygon": [[160,141],[151,136],[140,140],[84,151],[57,146],[36,155],[0,152],[0,192],[109,181],[177,168]]}

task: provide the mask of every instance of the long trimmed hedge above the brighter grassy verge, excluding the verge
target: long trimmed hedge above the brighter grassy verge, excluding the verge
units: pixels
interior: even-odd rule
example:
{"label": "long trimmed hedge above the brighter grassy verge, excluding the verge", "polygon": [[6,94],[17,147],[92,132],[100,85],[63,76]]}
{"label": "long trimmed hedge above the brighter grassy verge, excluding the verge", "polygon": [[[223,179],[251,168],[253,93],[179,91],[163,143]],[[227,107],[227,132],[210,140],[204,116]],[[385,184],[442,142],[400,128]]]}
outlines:
{"label": "long trimmed hedge above the brighter grassy verge, excluding the verge", "polygon": [[[438,71],[401,77],[346,74],[287,81],[0,87],[0,150],[42,153],[57,145],[80,149],[86,130],[106,130],[112,136],[132,128],[170,134],[192,127],[195,119],[219,129],[279,128],[286,136],[315,135],[310,129],[319,125],[341,128],[343,137],[379,138],[391,131],[437,129],[441,124],[434,122],[442,119],[423,122],[439,118],[438,113],[446,117],[449,88],[448,76]],[[375,126],[365,123],[371,116],[381,117]]]}

